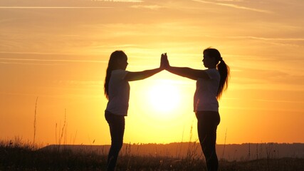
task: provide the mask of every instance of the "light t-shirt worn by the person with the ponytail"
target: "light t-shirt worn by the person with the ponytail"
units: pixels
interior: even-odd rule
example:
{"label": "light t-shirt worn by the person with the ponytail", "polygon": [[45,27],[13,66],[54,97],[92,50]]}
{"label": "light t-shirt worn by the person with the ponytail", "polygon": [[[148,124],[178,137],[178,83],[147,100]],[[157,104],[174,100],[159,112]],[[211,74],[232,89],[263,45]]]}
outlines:
{"label": "light t-shirt worn by the person with the ponytail", "polygon": [[219,111],[219,102],[216,99],[221,76],[216,68],[206,69],[210,79],[199,78],[196,81],[194,93],[194,112],[196,111]]}

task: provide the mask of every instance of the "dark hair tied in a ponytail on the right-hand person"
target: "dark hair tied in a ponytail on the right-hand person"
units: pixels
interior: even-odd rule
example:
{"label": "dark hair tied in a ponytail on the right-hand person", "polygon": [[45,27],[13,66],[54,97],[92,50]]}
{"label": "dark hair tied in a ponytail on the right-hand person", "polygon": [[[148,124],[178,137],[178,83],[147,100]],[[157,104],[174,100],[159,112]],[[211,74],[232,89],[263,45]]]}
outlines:
{"label": "dark hair tied in a ponytail on the right-hand person", "polygon": [[230,68],[226,65],[225,61],[221,57],[221,53],[216,48],[206,48],[203,52],[207,53],[211,58],[216,59],[216,68],[219,71],[221,79],[219,81],[219,89],[217,90],[216,98],[221,98],[221,94],[228,88],[228,82],[230,77]]}

